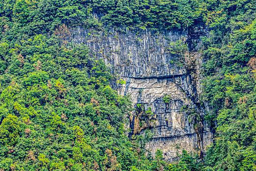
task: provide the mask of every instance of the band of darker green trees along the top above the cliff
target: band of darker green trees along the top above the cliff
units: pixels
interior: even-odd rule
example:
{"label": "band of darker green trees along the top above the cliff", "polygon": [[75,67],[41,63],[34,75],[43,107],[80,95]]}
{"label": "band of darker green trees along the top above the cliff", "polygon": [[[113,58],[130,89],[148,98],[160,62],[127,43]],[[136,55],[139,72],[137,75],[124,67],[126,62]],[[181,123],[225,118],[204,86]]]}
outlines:
{"label": "band of darker green trees along the top above the cliff", "polygon": [[9,39],[22,39],[24,34],[52,33],[62,23],[98,29],[103,24],[173,29],[200,22],[225,27],[239,15],[241,26],[254,11],[254,0],[2,0],[0,25],[2,33],[15,33]]}

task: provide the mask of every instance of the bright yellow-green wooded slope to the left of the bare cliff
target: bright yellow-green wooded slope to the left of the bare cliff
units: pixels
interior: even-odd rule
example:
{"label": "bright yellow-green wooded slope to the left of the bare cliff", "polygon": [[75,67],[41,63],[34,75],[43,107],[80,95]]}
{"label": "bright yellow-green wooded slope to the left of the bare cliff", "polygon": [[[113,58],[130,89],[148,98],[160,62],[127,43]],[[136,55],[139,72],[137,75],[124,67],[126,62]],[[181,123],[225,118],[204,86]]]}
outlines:
{"label": "bright yellow-green wooded slope to the left of the bare cliff", "polygon": [[0,45],[0,168],[142,166],[139,144],[123,132],[130,103],[108,85],[112,76],[104,63],[90,59],[84,45],[56,41],[37,35],[23,45]]}

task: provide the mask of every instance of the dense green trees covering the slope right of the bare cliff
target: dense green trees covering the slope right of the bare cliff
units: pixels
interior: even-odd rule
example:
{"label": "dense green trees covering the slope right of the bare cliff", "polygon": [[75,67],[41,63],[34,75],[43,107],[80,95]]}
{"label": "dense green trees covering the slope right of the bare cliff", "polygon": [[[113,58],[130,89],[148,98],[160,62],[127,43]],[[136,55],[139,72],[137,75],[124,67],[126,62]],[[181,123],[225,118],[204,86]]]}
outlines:
{"label": "dense green trees covering the slope right of the bare cliff", "polygon": [[236,7],[204,40],[204,100],[212,107],[206,119],[216,131],[207,171],[256,170],[255,2]]}

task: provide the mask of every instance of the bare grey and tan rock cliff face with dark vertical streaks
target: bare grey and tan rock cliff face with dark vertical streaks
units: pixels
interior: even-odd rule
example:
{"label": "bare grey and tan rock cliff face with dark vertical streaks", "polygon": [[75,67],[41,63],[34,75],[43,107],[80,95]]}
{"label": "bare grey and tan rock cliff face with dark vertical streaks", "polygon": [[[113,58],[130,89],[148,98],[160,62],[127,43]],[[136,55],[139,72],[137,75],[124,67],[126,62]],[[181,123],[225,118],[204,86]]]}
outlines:
{"label": "bare grey and tan rock cliff face with dark vertical streaks", "polygon": [[127,29],[72,31],[74,43],[87,44],[92,56],[103,58],[118,80],[125,80],[126,84],[114,82],[113,88],[130,95],[136,108],[127,126],[130,136],[149,129],[153,140],[147,149],[152,154],[161,149],[170,162],[183,149],[202,155],[212,143],[207,124],[201,120],[202,127],[195,127],[195,117],[193,123],[191,112],[182,110],[193,108],[199,118],[205,113],[199,105],[201,57],[197,52],[203,34],[206,31],[200,27],[161,34]]}

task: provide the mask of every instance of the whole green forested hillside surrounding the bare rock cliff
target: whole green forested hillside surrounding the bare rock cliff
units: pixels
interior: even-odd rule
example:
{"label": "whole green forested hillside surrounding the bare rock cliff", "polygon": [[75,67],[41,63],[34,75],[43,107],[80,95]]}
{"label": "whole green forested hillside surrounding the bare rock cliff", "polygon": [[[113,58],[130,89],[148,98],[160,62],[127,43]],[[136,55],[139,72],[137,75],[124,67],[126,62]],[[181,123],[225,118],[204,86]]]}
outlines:
{"label": "whole green forested hillside surrounding the bare rock cliff", "polygon": [[[127,137],[129,97],[63,35],[198,23],[209,30],[201,100],[214,144],[202,160],[183,151],[170,164],[161,150],[147,155],[150,134]],[[256,171],[255,0],[1,0],[0,32],[0,171]]]}

